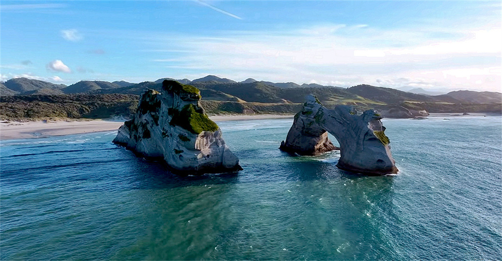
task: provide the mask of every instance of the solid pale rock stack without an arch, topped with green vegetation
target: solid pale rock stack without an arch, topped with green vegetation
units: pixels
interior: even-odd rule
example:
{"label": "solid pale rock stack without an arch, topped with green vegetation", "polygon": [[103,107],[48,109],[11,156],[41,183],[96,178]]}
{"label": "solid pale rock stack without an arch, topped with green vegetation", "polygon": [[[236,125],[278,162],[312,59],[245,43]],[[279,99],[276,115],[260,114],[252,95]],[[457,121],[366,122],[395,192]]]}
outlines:
{"label": "solid pale rock stack without an arch, topped with green vegetation", "polygon": [[162,159],[181,174],[241,170],[221,129],[200,107],[200,98],[193,86],[163,81],[161,93],[143,94],[133,119],[118,129],[113,143],[142,157]]}

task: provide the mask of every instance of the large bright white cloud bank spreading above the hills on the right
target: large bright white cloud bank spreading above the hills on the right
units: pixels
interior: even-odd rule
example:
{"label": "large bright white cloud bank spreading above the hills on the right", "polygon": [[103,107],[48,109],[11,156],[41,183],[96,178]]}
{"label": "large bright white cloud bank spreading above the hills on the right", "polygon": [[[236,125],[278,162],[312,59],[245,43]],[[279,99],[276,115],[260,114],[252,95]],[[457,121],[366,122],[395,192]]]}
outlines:
{"label": "large bright white cloud bank spreading above the hills on the right", "polygon": [[[493,68],[502,61],[501,29],[455,30],[450,35],[458,37],[450,37],[448,41],[430,38],[431,31],[345,25],[282,32],[231,31],[216,37],[155,34],[147,39],[151,50],[180,50],[159,51],[155,59],[179,73],[171,77],[218,74],[245,79],[258,75],[271,81],[303,83],[315,79],[320,84],[336,83],[343,87],[368,83],[385,87],[411,84],[426,88],[499,90],[501,73]],[[476,84],[481,80],[478,76],[451,75],[462,68],[484,77],[482,84]],[[476,72],[484,72],[485,68],[492,68],[491,72],[482,75]],[[445,78],[443,71],[451,77]],[[408,80],[399,80],[403,78]],[[382,79],[381,83],[377,79]]]}

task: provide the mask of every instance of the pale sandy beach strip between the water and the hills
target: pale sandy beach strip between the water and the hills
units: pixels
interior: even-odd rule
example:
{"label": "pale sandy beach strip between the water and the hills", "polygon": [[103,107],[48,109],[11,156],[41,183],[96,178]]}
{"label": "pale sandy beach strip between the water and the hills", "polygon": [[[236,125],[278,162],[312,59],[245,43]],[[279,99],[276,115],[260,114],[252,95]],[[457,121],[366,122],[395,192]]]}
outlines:
{"label": "pale sandy beach strip between the water and the hills", "polygon": [[[250,119],[275,119],[293,118],[294,115],[210,115],[209,117],[218,121],[228,120],[250,120]],[[50,136],[62,136],[72,134],[84,134],[94,132],[115,131],[123,124],[122,121],[108,120],[84,120],[84,121],[28,121],[28,122],[6,122],[0,123],[0,140],[17,140],[45,138]]]}

